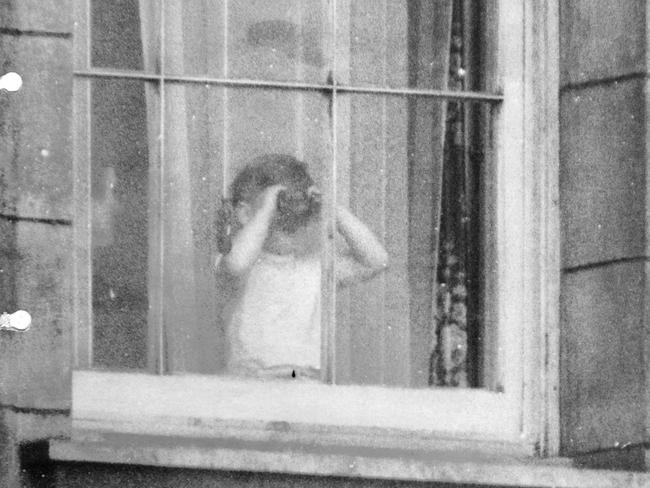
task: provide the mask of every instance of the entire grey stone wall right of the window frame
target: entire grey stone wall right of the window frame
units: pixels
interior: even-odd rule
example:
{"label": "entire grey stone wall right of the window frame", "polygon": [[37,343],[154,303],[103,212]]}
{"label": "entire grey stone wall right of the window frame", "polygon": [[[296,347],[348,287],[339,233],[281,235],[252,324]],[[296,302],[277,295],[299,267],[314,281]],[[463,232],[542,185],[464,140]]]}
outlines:
{"label": "entire grey stone wall right of the window frame", "polygon": [[647,440],[647,2],[560,9],[563,454],[634,464],[621,447]]}

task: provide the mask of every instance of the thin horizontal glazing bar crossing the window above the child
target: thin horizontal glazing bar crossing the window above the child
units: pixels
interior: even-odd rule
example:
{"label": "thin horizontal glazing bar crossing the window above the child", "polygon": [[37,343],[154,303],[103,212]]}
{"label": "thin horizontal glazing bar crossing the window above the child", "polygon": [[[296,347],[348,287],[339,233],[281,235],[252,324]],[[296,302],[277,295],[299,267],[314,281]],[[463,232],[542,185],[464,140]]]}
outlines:
{"label": "thin horizontal glazing bar crossing the window above the child", "polygon": [[196,83],[205,85],[241,87],[241,88],[272,88],[280,90],[308,90],[308,91],[325,91],[334,90],[339,93],[357,93],[357,94],[376,94],[376,95],[395,95],[395,96],[419,96],[441,98],[445,100],[463,100],[499,103],[503,101],[503,95],[484,92],[472,91],[451,91],[451,90],[424,90],[413,88],[388,88],[372,86],[347,86],[339,84],[317,84],[317,83],[293,83],[283,81],[264,81],[264,80],[243,80],[228,78],[208,78],[198,76],[162,76],[149,73],[137,73],[131,71],[113,71],[113,70],[94,70],[94,71],[75,71],[75,76],[86,78],[125,78],[140,79],[144,81],[157,81],[167,83]]}

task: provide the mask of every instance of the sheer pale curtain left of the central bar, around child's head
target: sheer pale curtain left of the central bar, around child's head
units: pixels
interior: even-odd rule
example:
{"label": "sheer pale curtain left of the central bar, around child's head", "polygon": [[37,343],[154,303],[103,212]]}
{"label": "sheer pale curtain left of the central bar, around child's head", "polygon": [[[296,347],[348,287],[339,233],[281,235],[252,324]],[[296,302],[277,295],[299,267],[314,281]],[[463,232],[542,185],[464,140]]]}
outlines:
{"label": "sheer pale curtain left of the central bar, around child's head", "polygon": [[[310,8],[314,5],[318,8]],[[145,68],[156,72],[162,63],[166,75],[324,80],[319,57],[324,5],[324,0],[140,0],[143,47],[149,53]],[[221,317],[225,303],[212,266],[220,197],[238,168],[265,152],[304,158],[318,180],[328,160],[327,103],[318,93],[196,83],[166,83],[162,96],[153,85],[147,90],[150,295],[162,310],[163,362],[170,372],[219,372],[228,353]],[[164,144],[158,163],[161,99]],[[156,321],[160,313],[153,310],[150,322]],[[150,330],[157,333],[155,326]]]}

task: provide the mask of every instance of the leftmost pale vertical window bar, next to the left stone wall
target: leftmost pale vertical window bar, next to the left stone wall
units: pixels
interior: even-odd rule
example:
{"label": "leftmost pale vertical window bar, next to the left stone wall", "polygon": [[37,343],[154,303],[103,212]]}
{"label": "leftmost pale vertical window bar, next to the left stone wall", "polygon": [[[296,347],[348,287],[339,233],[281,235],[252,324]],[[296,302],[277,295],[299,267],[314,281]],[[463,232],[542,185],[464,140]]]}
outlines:
{"label": "leftmost pale vertical window bar, next to the left stone wall", "polygon": [[[74,3],[74,69],[90,67],[90,0]],[[92,367],[92,254],[90,195],[90,91],[91,81],[73,81],[73,205],[74,242],[73,347],[75,368]]]}

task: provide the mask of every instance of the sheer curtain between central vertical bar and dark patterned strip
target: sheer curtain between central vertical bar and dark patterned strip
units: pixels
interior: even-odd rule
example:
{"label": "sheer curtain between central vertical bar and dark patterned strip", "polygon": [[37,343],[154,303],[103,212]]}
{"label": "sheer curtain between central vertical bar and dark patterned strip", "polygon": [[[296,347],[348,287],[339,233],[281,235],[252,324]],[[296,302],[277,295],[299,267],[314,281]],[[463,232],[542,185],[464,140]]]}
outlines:
{"label": "sheer curtain between central vertical bar and dark patterned strip", "polygon": [[[452,0],[339,8],[340,82],[447,88]],[[339,293],[338,380],[427,386],[447,103],[340,95],[338,108],[340,203],[382,236],[391,259],[387,273]]]}

